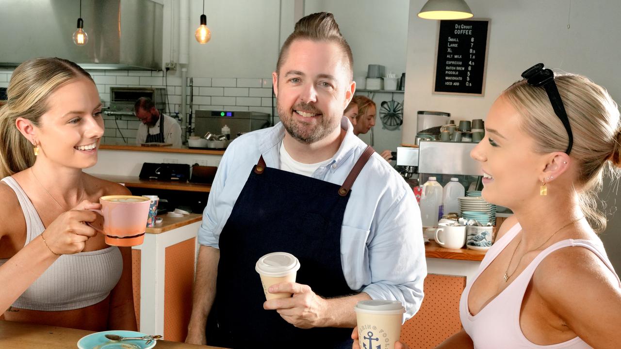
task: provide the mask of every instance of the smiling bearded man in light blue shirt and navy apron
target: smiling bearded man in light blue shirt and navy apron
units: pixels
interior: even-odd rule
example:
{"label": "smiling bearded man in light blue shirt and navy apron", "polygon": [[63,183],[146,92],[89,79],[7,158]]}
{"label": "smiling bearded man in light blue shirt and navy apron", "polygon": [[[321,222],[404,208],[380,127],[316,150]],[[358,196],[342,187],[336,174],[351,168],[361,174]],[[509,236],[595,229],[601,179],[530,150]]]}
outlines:
{"label": "smiling bearded man in light blue shirt and navy apron", "polygon": [[[281,123],[235,138],[215,175],[186,342],[351,348],[358,301],[401,301],[404,319],[419,309],[419,207],[343,116],[355,92],[352,67],[332,14],[297,22],[273,73]],[[268,289],[291,298],[265,300],[255,263],[271,252],[300,261],[296,283]]]}

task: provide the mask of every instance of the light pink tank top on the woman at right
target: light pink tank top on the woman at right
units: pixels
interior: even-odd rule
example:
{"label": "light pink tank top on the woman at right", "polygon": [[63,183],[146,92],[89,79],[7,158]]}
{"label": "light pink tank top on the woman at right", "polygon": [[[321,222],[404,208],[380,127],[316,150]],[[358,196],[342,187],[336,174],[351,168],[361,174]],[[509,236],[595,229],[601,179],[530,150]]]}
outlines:
{"label": "light pink tank top on the woman at right", "polygon": [[[526,267],[512,283],[507,286],[496,298],[487,303],[486,306],[476,315],[471,315],[468,310],[468,294],[474,281],[492,263],[492,261],[504,250],[507,245],[515,238],[515,235],[522,230],[520,224],[515,224],[505,235],[492,245],[481,261],[479,271],[473,279],[468,280],[466,288],[461,294],[460,300],[460,319],[464,330],[474,342],[475,349],[517,349],[517,348],[546,348],[546,349],[583,349],[591,348],[581,338],[576,337],[563,343],[553,345],[537,345],[530,342],[520,329],[520,308],[524,299],[524,292],[530,283],[530,279],[535,273],[535,269],[543,258],[550,253],[570,246],[585,247],[595,253],[605,265],[615,273],[605,254],[604,246],[595,245],[587,240],[562,240],[543,250]],[[617,274],[615,273],[615,276]],[[619,280],[619,276],[617,276]],[[621,281],[620,281],[621,284]]]}

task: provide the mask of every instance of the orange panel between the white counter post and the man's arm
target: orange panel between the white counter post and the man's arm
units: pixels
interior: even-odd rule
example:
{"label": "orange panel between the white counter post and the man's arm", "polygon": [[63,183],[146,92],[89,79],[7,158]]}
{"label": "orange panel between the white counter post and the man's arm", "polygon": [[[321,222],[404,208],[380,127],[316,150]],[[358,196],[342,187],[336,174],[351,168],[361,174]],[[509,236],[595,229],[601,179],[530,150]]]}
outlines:
{"label": "orange panel between the white counter post and the man's arm", "polygon": [[195,238],[166,247],[164,338],[183,342],[192,312]]}

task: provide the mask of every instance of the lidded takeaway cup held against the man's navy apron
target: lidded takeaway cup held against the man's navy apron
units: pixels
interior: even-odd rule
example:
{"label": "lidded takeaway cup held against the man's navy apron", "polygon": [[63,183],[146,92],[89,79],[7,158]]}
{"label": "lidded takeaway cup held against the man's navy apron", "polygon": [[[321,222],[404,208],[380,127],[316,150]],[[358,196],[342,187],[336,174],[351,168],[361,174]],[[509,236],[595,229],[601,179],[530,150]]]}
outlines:
{"label": "lidded takeaway cup held against the man's navy apron", "polygon": [[265,299],[269,301],[270,299],[291,297],[291,293],[270,293],[268,289],[273,284],[296,282],[296,274],[299,268],[300,261],[291,253],[273,252],[259,258],[256,261],[255,270],[261,277]]}

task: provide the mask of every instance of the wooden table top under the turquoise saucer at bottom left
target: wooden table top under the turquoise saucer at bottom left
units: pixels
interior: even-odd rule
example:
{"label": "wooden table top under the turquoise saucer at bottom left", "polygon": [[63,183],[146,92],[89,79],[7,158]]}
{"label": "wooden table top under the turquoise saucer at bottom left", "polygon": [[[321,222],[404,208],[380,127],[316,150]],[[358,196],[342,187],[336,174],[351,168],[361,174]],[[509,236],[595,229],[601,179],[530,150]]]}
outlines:
{"label": "wooden table top under the turquoise saucer at bottom left", "polygon": [[[94,332],[0,320],[0,348],[75,349],[78,340],[91,333]],[[155,347],[158,349],[220,348],[166,340],[158,340]]]}

